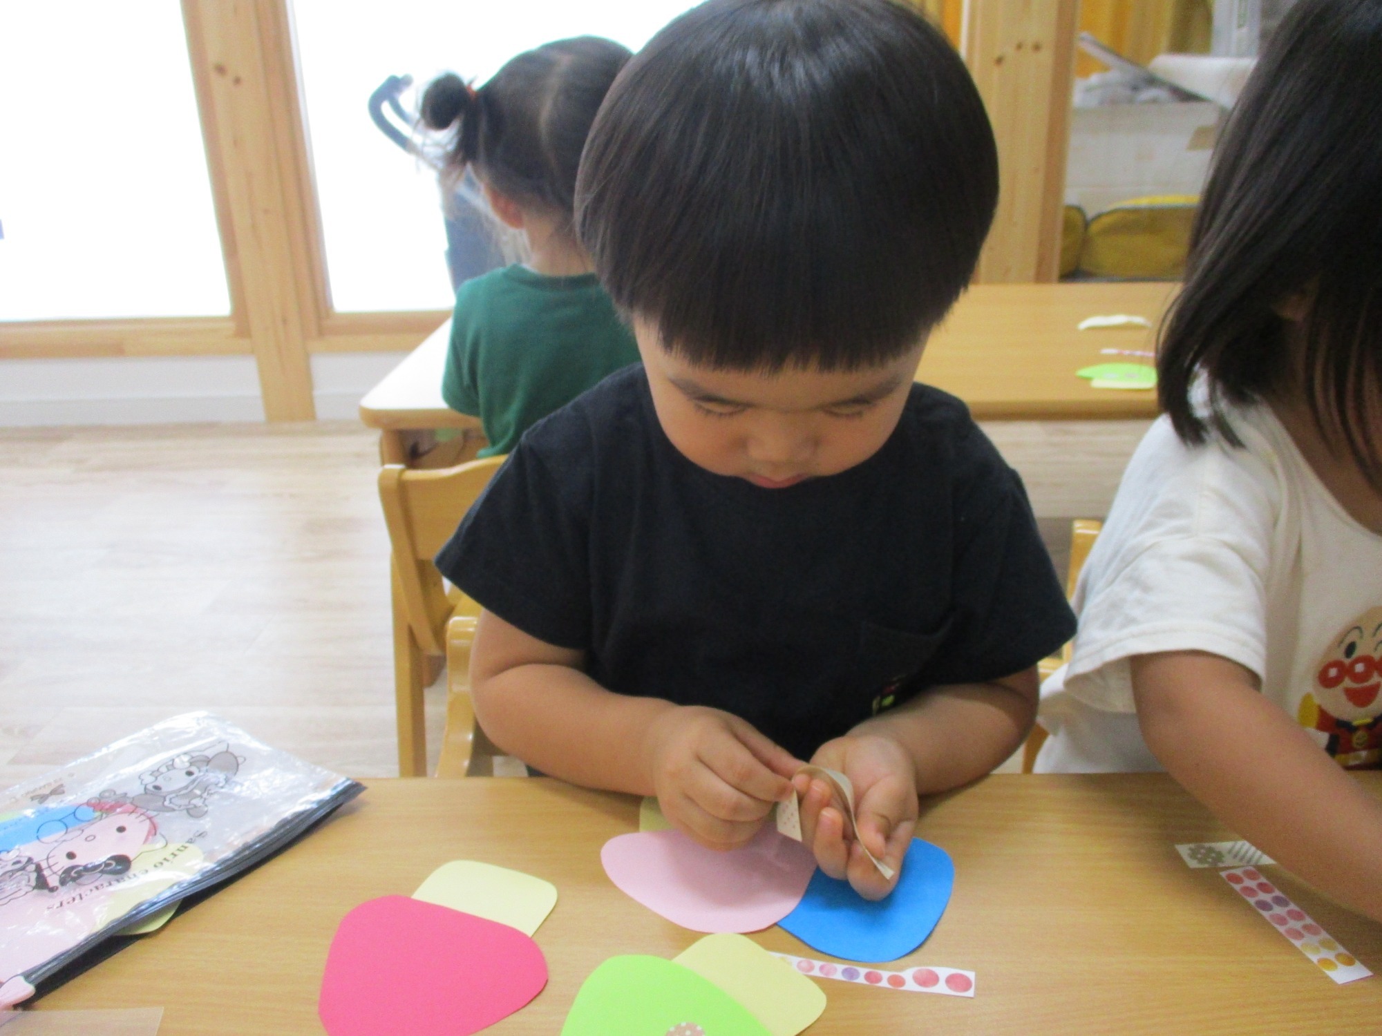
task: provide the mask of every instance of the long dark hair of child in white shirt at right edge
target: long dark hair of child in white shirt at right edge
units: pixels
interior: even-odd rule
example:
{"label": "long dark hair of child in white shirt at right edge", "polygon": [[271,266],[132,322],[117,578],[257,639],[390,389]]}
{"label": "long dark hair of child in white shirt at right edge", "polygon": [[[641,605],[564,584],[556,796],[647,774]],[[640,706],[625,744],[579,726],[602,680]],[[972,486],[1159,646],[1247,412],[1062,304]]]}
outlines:
{"label": "long dark hair of child in white shirt at right edge", "polygon": [[[1300,355],[1277,312],[1292,297]],[[1215,155],[1157,369],[1187,443],[1241,445],[1224,403],[1303,378],[1321,434],[1382,490],[1382,0],[1300,0],[1277,29]]]}

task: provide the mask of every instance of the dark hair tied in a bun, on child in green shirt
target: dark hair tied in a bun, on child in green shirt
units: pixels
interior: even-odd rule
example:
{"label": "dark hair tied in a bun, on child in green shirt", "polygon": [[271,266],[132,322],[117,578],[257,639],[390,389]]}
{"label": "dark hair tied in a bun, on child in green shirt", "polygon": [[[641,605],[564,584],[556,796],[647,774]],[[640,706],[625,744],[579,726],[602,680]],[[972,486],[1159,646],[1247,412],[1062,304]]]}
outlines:
{"label": "dark hair tied in a bun, on child in green shirt", "polygon": [[434,79],[420,120],[452,131],[445,177],[474,166],[499,193],[569,222],[590,123],[629,57],[614,40],[578,36],[520,54],[478,90],[453,73]]}

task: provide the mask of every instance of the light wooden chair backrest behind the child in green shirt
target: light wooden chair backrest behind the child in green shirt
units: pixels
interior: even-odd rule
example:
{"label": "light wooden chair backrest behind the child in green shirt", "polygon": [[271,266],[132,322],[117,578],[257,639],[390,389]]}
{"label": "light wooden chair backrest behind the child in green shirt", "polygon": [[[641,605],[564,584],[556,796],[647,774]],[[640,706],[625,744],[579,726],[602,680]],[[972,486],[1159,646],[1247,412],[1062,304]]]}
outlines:
{"label": "light wooden chair backrest behind the child in green shirt", "polygon": [[428,653],[445,655],[446,620],[455,611],[433,558],[503,461],[485,457],[437,471],[386,464],[379,472],[395,590],[413,637]]}

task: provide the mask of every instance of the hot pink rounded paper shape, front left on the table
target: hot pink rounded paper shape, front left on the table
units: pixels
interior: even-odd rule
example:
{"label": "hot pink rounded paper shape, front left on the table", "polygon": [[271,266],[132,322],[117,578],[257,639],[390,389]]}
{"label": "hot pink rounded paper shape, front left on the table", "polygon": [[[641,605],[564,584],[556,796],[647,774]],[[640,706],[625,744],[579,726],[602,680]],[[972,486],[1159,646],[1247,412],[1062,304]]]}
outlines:
{"label": "hot pink rounded paper shape, front left on the table", "polygon": [[546,984],[542,950],[517,928],[386,895],[341,920],[316,1013],[330,1036],[467,1036]]}

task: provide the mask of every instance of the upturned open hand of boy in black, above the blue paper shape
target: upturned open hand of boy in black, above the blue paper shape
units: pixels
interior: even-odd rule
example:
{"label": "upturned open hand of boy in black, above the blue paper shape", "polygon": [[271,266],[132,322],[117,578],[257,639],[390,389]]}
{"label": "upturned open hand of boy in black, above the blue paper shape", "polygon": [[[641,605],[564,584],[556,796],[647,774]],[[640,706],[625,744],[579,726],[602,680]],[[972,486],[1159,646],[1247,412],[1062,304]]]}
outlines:
{"label": "upturned open hand of boy in black, above the blue paper shape", "polygon": [[[795,782],[802,796],[802,841],[815,852],[815,862],[826,874],[847,877],[865,899],[882,899],[897,884],[902,856],[916,827],[916,769],[912,757],[891,738],[865,733],[826,742],[811,762],[837,769],[854,785],[860,830],[851,832],[849,816],[831,805],[829,783],[802,774]],[[882,863],[897,872],[891,880],[879,873],[857,844],[858,838]]]}

